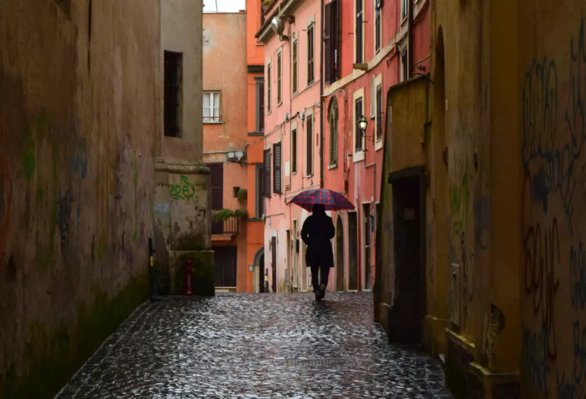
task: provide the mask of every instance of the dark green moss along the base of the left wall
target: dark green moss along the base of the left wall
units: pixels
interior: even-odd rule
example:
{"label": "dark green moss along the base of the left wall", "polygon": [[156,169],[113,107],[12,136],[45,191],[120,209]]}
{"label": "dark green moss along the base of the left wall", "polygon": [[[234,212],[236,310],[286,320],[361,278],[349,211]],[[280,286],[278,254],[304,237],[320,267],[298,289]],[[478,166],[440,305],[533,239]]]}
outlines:
{"label": "dark green moss along the base of the left wall", "polygon": [[0,374],[4,399],[52,398],[124,319],[148,297],[148,270],[141,272],[113,297],[99,287],[92,300],[77,307],[77,320],[62,320],[53,328],[36,322],[29,326],[22,361],[28,367],[16,375],[8,363]]}

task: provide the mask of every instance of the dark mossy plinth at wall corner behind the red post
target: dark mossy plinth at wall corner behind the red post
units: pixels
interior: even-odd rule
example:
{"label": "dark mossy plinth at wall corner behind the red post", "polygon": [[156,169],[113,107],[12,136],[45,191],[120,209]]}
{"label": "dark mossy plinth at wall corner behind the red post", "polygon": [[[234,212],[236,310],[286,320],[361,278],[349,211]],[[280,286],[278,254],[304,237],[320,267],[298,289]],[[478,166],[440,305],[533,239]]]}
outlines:
{"label": "dark mossy plinth at wall corner behind the red post", "polygon": [[214,252],[185,251],[175,252],[175,294],[185,293],[185,261],[192,260],[191,291],[193,295],[213,297],[214,287]]}

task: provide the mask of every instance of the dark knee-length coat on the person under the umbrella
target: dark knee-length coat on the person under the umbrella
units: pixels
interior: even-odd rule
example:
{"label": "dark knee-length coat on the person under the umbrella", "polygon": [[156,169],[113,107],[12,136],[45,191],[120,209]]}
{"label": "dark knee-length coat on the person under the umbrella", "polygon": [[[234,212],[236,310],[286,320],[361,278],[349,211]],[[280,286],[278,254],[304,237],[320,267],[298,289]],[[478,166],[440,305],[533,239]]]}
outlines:
{"label": "dark knee-length coat on the person under the umbrella", "polygon": [[331,239],[335,234],[332,218],[325,212],[315,212],[305,219],[301,229],[301,239],[307,245],[305,266],[333,267]]}

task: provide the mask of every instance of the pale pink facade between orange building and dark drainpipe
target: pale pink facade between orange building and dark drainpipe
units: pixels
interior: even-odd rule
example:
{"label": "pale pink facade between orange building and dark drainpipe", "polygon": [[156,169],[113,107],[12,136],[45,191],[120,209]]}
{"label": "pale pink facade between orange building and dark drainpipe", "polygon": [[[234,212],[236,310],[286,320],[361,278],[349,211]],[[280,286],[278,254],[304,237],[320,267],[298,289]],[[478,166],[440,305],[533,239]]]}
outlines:
{"label": "pale pink facade between orange building and dark drainpipe", "polygon": [[[264,241],[271,292],[308,290],[300,232],[308,212],[289,201],[320,187],[320,2],[273,2],[257,33],[264,43]],[[271,29],[272,16],[284,29]]]}

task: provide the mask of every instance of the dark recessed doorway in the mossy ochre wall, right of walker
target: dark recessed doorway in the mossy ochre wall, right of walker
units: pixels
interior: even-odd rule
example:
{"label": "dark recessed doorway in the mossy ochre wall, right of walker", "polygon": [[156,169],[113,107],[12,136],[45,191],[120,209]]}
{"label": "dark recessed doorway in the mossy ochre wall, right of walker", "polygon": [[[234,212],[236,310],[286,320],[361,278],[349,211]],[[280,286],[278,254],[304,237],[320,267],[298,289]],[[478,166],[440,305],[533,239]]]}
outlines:
{"label": "dark recessed doorway in the mossy ochre wall, right of walker", "polygon": [[389,319],[389,340],[421,343],[425,315],[425,233],[424,168],[391,173],[393,184],[393,236],[396,297]]}

